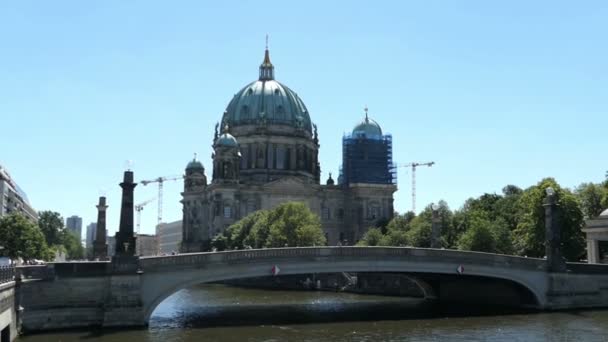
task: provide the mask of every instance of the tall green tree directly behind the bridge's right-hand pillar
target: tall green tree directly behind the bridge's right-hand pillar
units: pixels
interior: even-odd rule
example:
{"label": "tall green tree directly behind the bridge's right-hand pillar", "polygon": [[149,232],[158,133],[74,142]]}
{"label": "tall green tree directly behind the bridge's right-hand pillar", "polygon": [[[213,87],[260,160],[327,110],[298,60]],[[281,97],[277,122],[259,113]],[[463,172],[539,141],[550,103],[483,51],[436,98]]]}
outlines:
{"label": "tall green tree directly behind the bridge's right-hand pillar", "polygon": [[545,255],[545,190],[552,187],[557,197],[557,211],[561,227],[562,253],[568,260],[577,261],[585,250],[581,228],[583,212],[570,191],[562,189],[552,178],[545,178],[526,189],[518,202],[519,222],[513,231],[513,244],[519,255],[543,257]]}

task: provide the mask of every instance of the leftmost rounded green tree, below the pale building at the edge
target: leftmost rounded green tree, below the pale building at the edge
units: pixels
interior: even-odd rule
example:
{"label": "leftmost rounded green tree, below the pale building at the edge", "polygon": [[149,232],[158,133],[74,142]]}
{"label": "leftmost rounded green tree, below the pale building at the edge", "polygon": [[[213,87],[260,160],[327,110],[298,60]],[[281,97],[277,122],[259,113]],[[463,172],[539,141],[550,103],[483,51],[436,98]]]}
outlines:
{"label": "leftmost rounded green tree, below the pale building at the edge", "polygon": [[50,260],[50,252],[44,235],[36,224],[21,214],[0,218],[0,245],[11,258]]}

